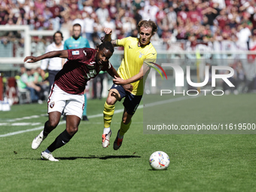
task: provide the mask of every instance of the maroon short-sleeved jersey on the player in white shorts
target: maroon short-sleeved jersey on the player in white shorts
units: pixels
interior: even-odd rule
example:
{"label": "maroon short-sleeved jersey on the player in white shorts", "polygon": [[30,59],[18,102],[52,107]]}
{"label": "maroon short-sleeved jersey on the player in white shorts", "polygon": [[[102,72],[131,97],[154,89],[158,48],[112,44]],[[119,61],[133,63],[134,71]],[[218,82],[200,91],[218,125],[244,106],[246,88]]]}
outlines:
{"label": "maroon short-sleeved jersey on the player in white shorts", "polygon": [[111,69],[111,63],[106,63],[102,69],[96,64],[96,49],[81,48],[67,50],[68,61],[55,76],[55,84],[66,93],[83,94],[87,81],[95,78],[100,71]]}

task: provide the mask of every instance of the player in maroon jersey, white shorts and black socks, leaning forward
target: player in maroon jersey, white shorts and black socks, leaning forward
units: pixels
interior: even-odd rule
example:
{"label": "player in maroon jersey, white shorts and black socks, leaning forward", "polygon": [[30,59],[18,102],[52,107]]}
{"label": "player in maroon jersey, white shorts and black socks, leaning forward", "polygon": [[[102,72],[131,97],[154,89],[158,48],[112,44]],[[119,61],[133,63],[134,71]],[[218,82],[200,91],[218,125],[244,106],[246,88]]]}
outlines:
{"label": "player in maroon jersey, white shorts and black socks, leaning forward", "polygon": [[26,56],[24,62],[38,62],[41,59],[53,57],[68,59],[55,77],[47,101],[49,119],[44,123],[44,130],[33,140],[32,149],[37,149],[47,135],[56,128],[63,110],[66,114],[66,130],[60,133],[45,151],[41,152],[41,159],[59,161],[51,153],[66,145],[78,132],[84,108],[84,87],[87,81],[95,78],[100,71],[108,72],[113,78],[114,75],[120,77],[108,61],[113,52],[114,47],[106,41],[97,49],[56,50],[41,56]]}

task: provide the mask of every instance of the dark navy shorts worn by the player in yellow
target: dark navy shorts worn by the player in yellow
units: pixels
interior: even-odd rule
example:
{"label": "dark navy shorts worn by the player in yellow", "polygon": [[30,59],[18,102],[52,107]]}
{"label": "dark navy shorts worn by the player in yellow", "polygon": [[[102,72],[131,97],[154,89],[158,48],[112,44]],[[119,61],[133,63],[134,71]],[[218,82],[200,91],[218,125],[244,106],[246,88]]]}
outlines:
{"label": "dark navy shorts worn by the player in yellow", "polygon": [[142,96],[133,95],[132,93],[124,90],[123,86],[121,85],[113,84],[111,89],[116,89],[119,92],[121,97],[119,101],[121,101],[123,97],[125,97],[123,101],[123,106],[126,108],[126,112],[128,114],[133,115],[139,106],[139,102],[141,102],[142,100]]}

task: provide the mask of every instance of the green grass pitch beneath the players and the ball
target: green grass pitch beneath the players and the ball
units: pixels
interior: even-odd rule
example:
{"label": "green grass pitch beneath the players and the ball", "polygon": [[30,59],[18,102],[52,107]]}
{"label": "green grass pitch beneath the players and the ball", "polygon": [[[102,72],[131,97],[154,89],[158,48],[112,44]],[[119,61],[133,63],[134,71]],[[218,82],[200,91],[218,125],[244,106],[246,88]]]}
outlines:
{"label": "green grass pitch beneath the players and the ball", "polygon": [[[177,124],[256,123],[255,100],[254,94],[200,96],[163,106]],[[0,191],[256,191],[254,134],[144,134],[139,108],[118,151],[112,147],[122,112],[114,114],[111,145],[104,149],[102,117],[93,116],[102,114],[104,102],[88,100],[90,121],[81,121],[69,144],[53,152],[59,162],[41,160],[40,153],[65,129],[62,121],[40,148],[31,148],[47,120],[46,103],[0,111]],[[122,108],[118,102],[116,111]],[[169,154],[167,170],[151,169],[154,151]]]}

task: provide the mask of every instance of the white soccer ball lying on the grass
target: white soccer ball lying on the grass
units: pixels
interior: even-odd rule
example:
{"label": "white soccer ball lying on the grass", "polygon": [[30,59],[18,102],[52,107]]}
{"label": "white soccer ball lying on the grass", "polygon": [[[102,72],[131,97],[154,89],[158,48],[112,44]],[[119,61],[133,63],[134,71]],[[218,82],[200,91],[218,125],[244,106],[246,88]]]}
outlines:
{"label": "white soccer ball lying on the grass", "polygon": [[149,164],[152,169],[163,170],[169,166],[169,156],[163,151],[155,151],[149,157]]}

